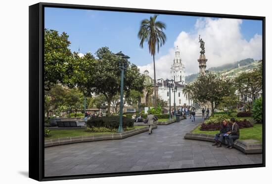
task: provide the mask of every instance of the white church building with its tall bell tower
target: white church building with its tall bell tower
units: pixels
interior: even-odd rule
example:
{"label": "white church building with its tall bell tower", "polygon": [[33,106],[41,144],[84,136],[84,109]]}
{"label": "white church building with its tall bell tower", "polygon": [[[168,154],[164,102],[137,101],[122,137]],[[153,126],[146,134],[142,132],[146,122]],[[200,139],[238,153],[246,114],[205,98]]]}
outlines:
{"label": "white church building with its tall bell tower", "polygon": [[[181,60],[181,52],[179,48],[176,48],[175,52],[175,58],[173,60],[173,64],[170,68],[171,73],[171,79],[174,80],[173,86],[177,88],[177,92],[175,92],[175,101],[176,101],[176,107],[181,106],[188,106],[189,102],[186,97],[184,97],[184,94],[182,92],[182,89],[185,88],[185,67]],[[149,76],[149,72],[147,70],[144,71],[144,74],[148,78],[149,82],[153,82],[153,79]],[[147,80],[147,82],[148,82]],[[158,98],[160,98],[163,101],[167,102],[167,105],[169,106],[170,103],[170,97],[171,97],[171,106],[174,106],[174,88],[171,88],[169,91],[169,88],[167,87],[167,81],[166,79],[158,79],[157,81],[157,90],[158,90]],[[146,97],[146,94],[144,93],[144,97]],[[191,103],[191,102],[190,102]]]}

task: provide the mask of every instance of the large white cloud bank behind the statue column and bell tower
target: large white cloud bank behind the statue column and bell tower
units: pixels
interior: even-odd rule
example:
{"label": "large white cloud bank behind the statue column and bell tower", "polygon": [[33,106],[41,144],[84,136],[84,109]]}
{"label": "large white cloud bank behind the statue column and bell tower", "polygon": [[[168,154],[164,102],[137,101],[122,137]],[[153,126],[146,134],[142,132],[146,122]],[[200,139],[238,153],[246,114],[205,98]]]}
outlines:
{"label": "large white cloud bank behind the statue column and bell tower", "polygon": [[[199,35],[205,42],[207,69],[246,58],[262,59],[262,36],[256,34],[247,41],[241,33],[241,24],[240,19],[197,19],[193,31],[186,33],[181,30],[169,53],[155,60],[156,78],[170,77],[176,46],[181,50],[186,75],[199,72]],[[153,63],[138,67],[141,72],[148,70],[153,78]]]}

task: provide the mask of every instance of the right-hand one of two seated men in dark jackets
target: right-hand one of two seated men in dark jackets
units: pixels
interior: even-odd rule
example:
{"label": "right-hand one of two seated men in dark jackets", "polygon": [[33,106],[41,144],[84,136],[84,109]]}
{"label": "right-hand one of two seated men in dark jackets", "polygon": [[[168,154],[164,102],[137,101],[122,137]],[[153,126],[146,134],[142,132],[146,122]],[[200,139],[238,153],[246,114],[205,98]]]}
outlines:
{"label": "right-hand one of two seated men in dark jackets", "polygon": [[235,141],[236,139],[239,139],[239,135],[240,135],[240,129],[238,124],[235,122],[235,119],[232,117],[230,119],[230,130],[227,132],[228,136],[226,137],[226,141],[227,141],[227,146],[228,149],[232,149],[233,148],[233,141]]}

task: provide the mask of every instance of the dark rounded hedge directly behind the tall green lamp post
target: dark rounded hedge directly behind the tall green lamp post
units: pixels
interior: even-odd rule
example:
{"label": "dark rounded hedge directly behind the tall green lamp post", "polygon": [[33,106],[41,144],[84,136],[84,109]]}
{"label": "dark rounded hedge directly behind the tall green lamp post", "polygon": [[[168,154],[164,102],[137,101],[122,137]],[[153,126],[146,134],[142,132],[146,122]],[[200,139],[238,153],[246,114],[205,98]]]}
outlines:
{"label": "dark rounded hedge directly behind the tall green lamp post", "polygon": [[[123,128],[133,127],[134,120],[123,117]],[[87,121],[88,127],[106,127],[109,129],[117,129],[119,127],[119,116],[95,117]]]}

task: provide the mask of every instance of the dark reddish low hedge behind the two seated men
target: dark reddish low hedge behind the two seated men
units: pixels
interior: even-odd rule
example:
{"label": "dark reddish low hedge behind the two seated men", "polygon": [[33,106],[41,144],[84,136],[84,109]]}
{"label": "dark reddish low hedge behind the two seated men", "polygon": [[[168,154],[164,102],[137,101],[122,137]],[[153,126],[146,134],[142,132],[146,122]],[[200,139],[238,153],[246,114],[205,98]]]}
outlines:
{"label": "dark reddish low hedge behind the two seated men", "polygon": [[[238,124],[239,129],[253,127],[253,125],[246,119],[244,119],[242,121],[236,121],[236,123]],[[202,131],[215,131],[215,130],[220,130],[220,129],[221,129],[220,122],[202,123],[201,127],[200,127],[200,130],[202,130]]]}

